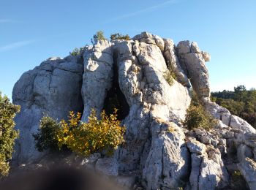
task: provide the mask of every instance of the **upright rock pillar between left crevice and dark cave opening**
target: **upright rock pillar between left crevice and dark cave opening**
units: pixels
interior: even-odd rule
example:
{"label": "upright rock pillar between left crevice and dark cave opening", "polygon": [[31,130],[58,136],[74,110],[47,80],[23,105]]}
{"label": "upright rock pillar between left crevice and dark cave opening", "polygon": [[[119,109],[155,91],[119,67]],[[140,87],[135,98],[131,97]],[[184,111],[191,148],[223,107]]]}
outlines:
{"label": "upright rock pillar between left crevice and dark cave opening", "polygon": [[99,114],[103,108],[105,97],[112,86],[113,80],[113,50],[111,42],[99,41],[93,47],[86,47],[83,54],[83,117],[86,121],[91,109]]}

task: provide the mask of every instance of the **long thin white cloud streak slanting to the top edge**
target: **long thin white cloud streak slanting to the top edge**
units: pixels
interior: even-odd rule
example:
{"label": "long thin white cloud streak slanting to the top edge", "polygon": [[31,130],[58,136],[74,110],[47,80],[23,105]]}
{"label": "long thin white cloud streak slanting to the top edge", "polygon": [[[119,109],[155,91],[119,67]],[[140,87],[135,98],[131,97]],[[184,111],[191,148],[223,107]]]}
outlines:
{"label": "long thin white cloud streak slanting to the top edge", "polygon": [[146,7],[145,9],[140,9],[138,11],[135,11],[135,12],[130,12],[130,13],[127,13],[127,14],[124,14],[124,15],[120,15],[116,18],[113,18],[113,19],[110,19],[110,20],[107,20],[105,23],[110,23],[110,22],[114,22],[116,20],[122,20],[124,18],[130,18],[130,17],[133,17],[135,15],[139,15],[139,14],[142,14],[142,13],[145,13],[145,12],[150,12],[150,11],[153,11],[155,9],[159,9],[160,7],[164,7],[164,6],[167,6],[167,5],[170,5],[170,4],[176,4],[178,3],[177,0],[169,0],[169,1],[165,1],[161,4],[156,4],[152,7]]}

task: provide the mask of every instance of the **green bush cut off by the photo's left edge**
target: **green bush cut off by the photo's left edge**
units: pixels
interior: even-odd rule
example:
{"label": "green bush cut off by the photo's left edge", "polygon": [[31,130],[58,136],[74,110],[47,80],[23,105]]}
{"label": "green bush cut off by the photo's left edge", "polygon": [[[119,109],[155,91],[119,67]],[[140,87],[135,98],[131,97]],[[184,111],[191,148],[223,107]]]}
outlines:
{"label": "green bush cut off by the photo's left edge", "polygon": [[0,177],[8,175],[9,161],[12,158],[15,139],[18,131],[14,129],[13,118],[20,111],[20,106],[10,102],[7,96],[1,96],[0,92]]}

